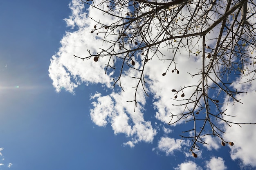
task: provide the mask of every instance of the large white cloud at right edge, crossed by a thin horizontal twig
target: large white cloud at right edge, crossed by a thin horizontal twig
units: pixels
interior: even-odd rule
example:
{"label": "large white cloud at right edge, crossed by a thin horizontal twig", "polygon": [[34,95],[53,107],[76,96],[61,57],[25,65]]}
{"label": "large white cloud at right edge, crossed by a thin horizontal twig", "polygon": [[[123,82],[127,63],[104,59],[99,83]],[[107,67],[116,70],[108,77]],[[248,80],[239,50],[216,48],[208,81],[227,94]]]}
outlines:
{"label": "large white cloud at right edge, crossed by a thin horizontal twig", "polygon": [[[248,65],[248,67],[252,70],[255,69],[253,65]],[[225,111],[227,115],[236,116],[225,116],[225,119],[230,122],[256,123],[256,82],[243,83],[247,81],[247,78],[250,76],[252,75],[239,78],[232,84],[238,91],[247,92],[247,94],[239,94],[236,96],[243,104],[235,103],[235,105],[232,105],[233,103],[229,103],[229,105],[224,107],[227,109],[227,111]],[[226,102],[227,101],[228,98],[226,98]],[[236,124],[230,125],[232,126],[225,126],[226,134],[224,137],[227,142],[234,142],[234,146],[228,145],[231,148],[231,158],[233,160],[240,159],[245,166],[256,167],[256,125],[241,124],[242,127]]]}

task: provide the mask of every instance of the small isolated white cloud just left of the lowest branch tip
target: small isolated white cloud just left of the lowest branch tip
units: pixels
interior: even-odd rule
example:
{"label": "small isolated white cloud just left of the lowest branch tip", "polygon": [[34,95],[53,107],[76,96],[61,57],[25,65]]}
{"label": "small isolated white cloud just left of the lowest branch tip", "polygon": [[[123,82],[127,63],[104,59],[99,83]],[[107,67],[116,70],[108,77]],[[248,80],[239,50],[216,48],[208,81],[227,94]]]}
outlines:
{"label": "small isolated white cloud just left of the lowest branch tip", "polygon": [[173,139],[170,137],[161,137],[158,141],[157,149],[165,152],[166,155],[172,155],[175,150],[182,150],[182,146],[188,145],[184,140]]}

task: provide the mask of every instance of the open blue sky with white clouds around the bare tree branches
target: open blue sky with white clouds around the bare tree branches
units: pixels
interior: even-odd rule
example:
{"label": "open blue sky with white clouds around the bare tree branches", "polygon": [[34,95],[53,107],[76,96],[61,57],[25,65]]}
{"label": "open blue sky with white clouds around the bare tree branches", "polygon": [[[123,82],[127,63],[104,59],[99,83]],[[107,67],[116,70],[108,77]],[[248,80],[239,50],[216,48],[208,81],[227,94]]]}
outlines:
{"label": "open blue sky with white clouds around the bare tree branches", "polygon": [[[185,125],[167,125],[170,108],[163,100],[171,93],[153,92],[158,98],[141,93],[133,112],[134,104],[120,100],[129,98],[130,89],[124,94],[113,89],[100,62],[74,59],[99,44],[90,37],[94,23],[85,9],[79,0],[0,0],[0,170],[256,168],[255,126],[228,129],[232,148],[206,139],[211,144],[200,146],[195,159],[189,141],[179,137]],[[158,83],[150,85],[161,89],[169,82]],[[250,93],[241,95],[244,105],[230,106],[230,113],[256,122],[255,85],[235,84]]]}

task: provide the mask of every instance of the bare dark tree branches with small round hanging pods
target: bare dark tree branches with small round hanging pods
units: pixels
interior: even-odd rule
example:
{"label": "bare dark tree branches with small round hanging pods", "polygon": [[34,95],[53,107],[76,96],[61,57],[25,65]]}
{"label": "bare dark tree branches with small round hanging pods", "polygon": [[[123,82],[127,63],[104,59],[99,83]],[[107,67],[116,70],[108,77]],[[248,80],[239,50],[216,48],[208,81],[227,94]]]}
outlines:
{"label": "bare dark tree branches with small round hanging pods", "polygon": [[[124,69],[134,68],[138,72],[135,98],[137,105],[137,90],[146,92],[146,78],[144,69],[153,57],[168,62],[168,68],[161,76],[171,72],[180,73],[176,58],[180,50],[186,50],[188,56],[202,56],[202,67],[192,77],[200,77],[195,85],[173,89],[173,100],[180,101],[179,107],[184,107],[182,113],[170,113],[171,121],[192,121],[191,129],[182,132],[183,138],[190,138],[190,151],[194,157],[198,144],[204,142],[205,135],[218,136],[221,144],[234,145],[222,137],[225,133],[220,128],[220,122],[228,126],[232,124],[254,124],[230,122],[226,118],[230,115],[222,110],[223,103],[218,96],[227,96],[229,102],[240,102],[236,98],[238,92],[231,87],[234,77],[247,76],[247,83],[255,79],[255,49],[256,49],[256,4],[253,0],[102,0],[100,2],[88,0],[84,4],[99,10],[102,15],[111,15],[112,23],[104,24],[94,20],[97,24],[94,31],[103,33],[103,41],[111,44],[107,49],[99,48],[91,53],[88,49],[87,57],[80,59],[94,59],[108,57],[106,72],[119,72],[114,79],[114,86],[122,88],[121,77]],[[112,39],[116,37],[116,39]],[[170,58],[162,58],[161,50],[165,48],[171,54]],[[143,56],[139,60],[136,56]],[[137,59],[137,60],[136,60]],[[135,63],[141,65],[135,68]],[[119,65],[119,67],[116,67]],[[192,67],[192,66],[191,66]],[[117,69],[118,68],[118,69]],[[119,69],[120,68],[120,69]],[[139,88],[142,87],[142,88]],[[184,90],[193,89],[192,94],[184,94]],[[209,95],[217,91],[218,96]],[[147,94],[148,95],[148,94]],[[177,97],[181,96],[181,98]]]}

